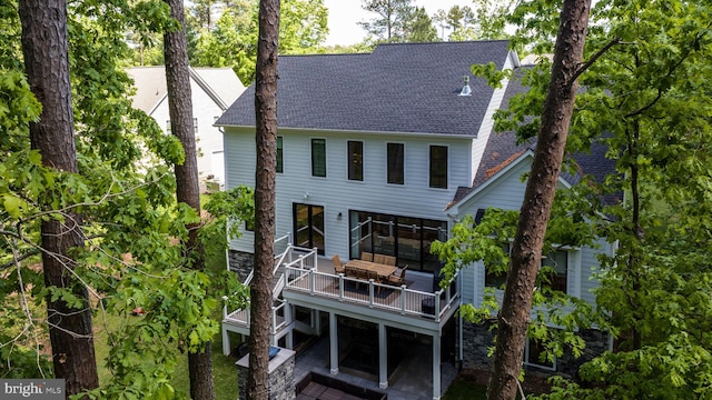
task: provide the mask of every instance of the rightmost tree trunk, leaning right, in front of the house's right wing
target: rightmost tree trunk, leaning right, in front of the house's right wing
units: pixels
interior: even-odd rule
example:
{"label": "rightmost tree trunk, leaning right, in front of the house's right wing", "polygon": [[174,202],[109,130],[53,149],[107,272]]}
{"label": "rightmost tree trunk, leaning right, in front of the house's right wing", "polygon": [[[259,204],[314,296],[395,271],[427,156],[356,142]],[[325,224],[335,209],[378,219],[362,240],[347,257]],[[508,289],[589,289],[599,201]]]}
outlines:
{"label": "rightmost tree trunk, leaning right, in front of the house's right wing", "polygon": [[512,264],[502,310],[497,317],[494,371],[487,389],[490,400],[510,400],[516,396],[532,294],[578,88],[575,77],[581,68],[590,8],[591,0],[565,0],[562,8],[542,127],[512,244]]}

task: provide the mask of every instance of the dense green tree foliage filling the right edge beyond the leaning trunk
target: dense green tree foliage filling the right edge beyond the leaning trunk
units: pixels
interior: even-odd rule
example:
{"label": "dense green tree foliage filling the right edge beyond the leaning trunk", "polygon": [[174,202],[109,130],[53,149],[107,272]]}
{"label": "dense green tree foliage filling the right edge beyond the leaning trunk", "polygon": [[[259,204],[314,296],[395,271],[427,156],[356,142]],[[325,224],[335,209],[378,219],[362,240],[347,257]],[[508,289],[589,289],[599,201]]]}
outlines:
{"label": "dense green tree foliage filling the right edge beyond the leaning trunk", "polygon": [[[520,3],[510,19],[518,27],[515,48],[553,52],[560,6]],[[555,379],[547,397],[706,398],[712,69],[704,60],[712,51],[712,9],[694,1],[609,0],[596,2],[591,18],[585,59],[621,41],[580,76],[584,90],[567,150],[604,141],[616,174],[578,190],[589,191],[587,200],[619,192],[626,201],[587,207],[572,197],[562,211],[599,208],[585,217],[591,233],[615,244],[615,254],[600,257],[601,286],[587,318],[616,337],[616,351],[578,371],[585,384]],[[497,113],[496,129],[516,130],[520,140],[536,134],[531,116],[541,114],[548,69],[543,62],[523,72],[532,90]],[[590,234],[583,227],[572,233]]]}

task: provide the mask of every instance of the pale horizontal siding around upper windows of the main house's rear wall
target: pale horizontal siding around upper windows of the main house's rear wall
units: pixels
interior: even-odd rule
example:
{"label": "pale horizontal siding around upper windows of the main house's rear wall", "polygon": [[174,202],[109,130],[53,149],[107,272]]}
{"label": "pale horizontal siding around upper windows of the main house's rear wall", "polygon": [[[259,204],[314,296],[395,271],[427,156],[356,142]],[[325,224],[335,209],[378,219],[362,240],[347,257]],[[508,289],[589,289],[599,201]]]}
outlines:
{"label": "pale horizontal siding around upper windows of the main house's rear wall", "polygon": [[[325,253],[348,254],[348,211],[446,220],[443,209],[458,186],[469,186],[471,139],[305,132],[281,130],[284,173],[277,174],[277,234],[293,231],[293,203],[323,206]],[[310,140],[326,139],[326,178],[312,177]],[[364,181],[347,177],[347,141],[364,142]],[[405,184],[386,183],[386,143],[405,143]],[[448,189],[428,187],[429,146],[448,148]],[[227,188],[255,184],[254,128],[226,128]],[[308,193],[308,196],[307,196]],[[342,219],[337,216],[342,213]],[[231,242],[236,250],[251,251],[254,238],[245,234]]]}

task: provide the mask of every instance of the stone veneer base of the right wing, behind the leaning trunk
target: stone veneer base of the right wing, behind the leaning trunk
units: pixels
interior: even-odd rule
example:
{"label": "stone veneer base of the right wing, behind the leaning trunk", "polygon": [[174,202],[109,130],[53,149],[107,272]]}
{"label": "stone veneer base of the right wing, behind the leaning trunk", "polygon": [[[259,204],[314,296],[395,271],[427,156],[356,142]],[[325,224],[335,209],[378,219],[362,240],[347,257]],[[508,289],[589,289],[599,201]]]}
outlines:
{"label": "stone veneer base of the right wing, behind the leaning trunk", "polygon": [[[496,321],[485,323],[469,323],[463,321],[463,369],[472,371],[490,371],[492,369],[492,358],[487,357],[487,350],[494,346],[495,331],[490,330],[491,324]],[[609,334],[595,329],[580,330],[578,336],[586,342],[583,354],[574,358],[571,352],[565,352],[563,357],[556,359],[556,373],[571,378],[578,378],[578,368],[586,361],[600,356],[609,349]],[[553,374],[536,367],[526,367],[528,371]]]}

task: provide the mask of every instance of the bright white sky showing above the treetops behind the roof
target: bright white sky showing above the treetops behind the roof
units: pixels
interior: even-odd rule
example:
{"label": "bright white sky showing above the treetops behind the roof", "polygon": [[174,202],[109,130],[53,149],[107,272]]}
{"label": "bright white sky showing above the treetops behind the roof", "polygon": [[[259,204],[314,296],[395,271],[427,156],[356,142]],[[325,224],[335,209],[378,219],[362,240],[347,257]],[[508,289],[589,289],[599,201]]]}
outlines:
{"label": "bright white sky showing above the treetops behind the roof", "polygon": [[[348,46],[360,42],[365,31],[357,22],[377,17],[376,13],[360,8],[362,0],[324,0],[324,4],[329,10],[329,34],[326,38],[326,46]],[[453,6],[473,7],[472,0],[414,0],[413,4],[425,7],[425,11],[431,17],[437,10],[447,11]]]}

